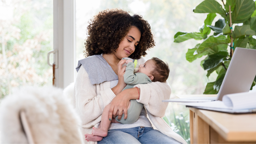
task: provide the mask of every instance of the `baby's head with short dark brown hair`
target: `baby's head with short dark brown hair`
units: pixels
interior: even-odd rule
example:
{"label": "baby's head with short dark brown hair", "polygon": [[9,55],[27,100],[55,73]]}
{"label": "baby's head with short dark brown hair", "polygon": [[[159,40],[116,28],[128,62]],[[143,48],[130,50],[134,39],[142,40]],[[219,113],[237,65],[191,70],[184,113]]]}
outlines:
{"label": "baby's head with short dark brown hair", "polygon": [[166,82],[169,77],[169,66],[158,58],[147,60],[141,64],[138,72],[145,73],[152,82]]}

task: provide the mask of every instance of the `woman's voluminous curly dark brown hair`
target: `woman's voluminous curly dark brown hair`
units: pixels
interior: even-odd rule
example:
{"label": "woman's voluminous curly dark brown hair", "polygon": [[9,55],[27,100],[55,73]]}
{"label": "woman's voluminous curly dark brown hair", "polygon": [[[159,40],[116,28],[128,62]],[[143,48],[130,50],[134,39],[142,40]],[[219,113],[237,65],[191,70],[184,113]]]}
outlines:
{"label": "woman's voluminous curly dark brown hair", "polygon": [[135,51],[130,55],[132,59],[146,56],[146,50],[155,46],[150,25],[142,16],[131,16],[123,10],[105,10],[90,19],[87,26],[87,39],[85,40],[84,56],[109,54],[115,51],[131,26],[137,27],[141,32],[140,42]]}

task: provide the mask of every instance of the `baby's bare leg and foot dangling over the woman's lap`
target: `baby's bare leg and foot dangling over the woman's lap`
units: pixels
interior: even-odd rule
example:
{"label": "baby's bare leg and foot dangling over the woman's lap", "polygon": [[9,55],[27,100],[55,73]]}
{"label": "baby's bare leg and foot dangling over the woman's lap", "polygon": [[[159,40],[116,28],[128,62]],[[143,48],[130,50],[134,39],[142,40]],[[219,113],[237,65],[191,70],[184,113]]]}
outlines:
{"label": "baby's bare leg and foot dangling over the woman's lap", "polygon": [[102,136],[102,137],[105,137],[108,135],[108,130],[110,127],[110,122],[111,122],[111,120],[109,120],[110,119],[109,111],[110,111],[110,105],[108,105],[104,108],[102,115],[101,115],[100,126],[98,129],[93,127],[92,135],[98,135],[98,136]]}

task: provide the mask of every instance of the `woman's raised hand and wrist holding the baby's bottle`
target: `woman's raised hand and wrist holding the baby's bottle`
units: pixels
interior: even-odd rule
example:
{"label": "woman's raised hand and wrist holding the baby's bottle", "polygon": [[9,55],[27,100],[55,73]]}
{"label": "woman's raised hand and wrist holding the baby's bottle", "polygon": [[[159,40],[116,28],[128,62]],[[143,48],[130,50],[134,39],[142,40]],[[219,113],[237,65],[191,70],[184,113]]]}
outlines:
{"label": "woman's raised hand and wrist holding the baby's bottle", "polygon": [[127,85],[124,83],[124,79],[123,79],[126,66],[122,68],[122,64],[124,64],[125,61],[126,60],[120,60],[119,63],[117,64],[118,83],[115,87],[112,88],[112,91],[114,92],[115,95],[118,95],[122,91],[122,89]]}

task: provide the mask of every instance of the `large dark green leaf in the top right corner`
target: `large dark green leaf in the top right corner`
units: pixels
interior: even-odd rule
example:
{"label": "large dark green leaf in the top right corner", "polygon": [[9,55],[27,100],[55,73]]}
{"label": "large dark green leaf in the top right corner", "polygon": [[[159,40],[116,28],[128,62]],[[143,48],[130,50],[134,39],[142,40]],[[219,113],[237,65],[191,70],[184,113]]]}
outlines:
{"label": "large dark green leaf in the top right corner", "polygon": [[251,17],[256,6],[253,0],[236,0],[235,9],[232,12],[232,23],[244,23]]}

